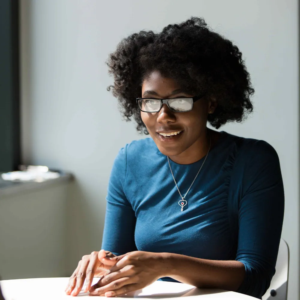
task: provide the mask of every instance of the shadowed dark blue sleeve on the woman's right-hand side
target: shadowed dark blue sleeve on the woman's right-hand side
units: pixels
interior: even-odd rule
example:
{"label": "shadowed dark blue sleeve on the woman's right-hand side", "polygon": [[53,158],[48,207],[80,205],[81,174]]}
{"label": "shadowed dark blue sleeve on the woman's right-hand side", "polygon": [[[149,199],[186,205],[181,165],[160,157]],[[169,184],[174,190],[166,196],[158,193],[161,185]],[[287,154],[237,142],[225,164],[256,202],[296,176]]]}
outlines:
{"label": "shadowed dark blue sleeve on the woman's right-hand side", "polygon": [[261,298],[275,273],[283,223],[284,192],[279,159],[272,146],[256,141],[245,156],[240,155],[235,169],[236,176],[240,176],[235,180],[240,184],[236,187],[240,200],[235,260],[246,269],[237,292]]}

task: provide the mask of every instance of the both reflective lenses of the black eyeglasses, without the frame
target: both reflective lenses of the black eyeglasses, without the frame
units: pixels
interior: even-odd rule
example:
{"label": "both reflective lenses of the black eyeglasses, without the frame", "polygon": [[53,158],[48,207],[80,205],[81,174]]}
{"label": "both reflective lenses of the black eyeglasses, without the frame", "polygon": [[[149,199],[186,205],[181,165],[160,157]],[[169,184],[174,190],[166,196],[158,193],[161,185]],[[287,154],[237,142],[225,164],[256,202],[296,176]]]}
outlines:
{"label": "both reflective lenses of the black eyeglasses, without the frame", "polygon": [[[168,101],[169,107],[175,112],[184,112],[192,109],[193,101],[191,98],[175,98]],[[159,111],[161,101],[158,99],[140,99],[140,109],[149,113]]]}

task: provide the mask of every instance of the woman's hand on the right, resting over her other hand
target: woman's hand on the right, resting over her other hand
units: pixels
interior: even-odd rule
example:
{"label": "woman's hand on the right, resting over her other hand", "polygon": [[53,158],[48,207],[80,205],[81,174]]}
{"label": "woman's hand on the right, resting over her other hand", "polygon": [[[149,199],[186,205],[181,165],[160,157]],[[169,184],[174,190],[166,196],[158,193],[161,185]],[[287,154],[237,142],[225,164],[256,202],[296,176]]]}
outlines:
{"label": "woman's hand on the right, resting over her other hand", "polygon": [[103,259],[116,264],[98,283],[90,288],[91,295],[113,297],[142,289],[164,277],[161,253],[134,251],[114,258]]}

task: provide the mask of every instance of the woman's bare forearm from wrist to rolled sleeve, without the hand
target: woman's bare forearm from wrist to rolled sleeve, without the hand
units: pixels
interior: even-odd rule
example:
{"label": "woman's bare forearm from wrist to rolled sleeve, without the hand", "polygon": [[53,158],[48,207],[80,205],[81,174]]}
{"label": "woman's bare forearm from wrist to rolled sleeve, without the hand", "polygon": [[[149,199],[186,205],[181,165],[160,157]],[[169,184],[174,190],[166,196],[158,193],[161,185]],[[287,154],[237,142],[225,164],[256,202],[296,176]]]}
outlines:
{"label": "woman's bare forearm from wrist to rolled sleeve, without the hand", "polygon": [[236,291],[245,276],[242,262],[200,259],[174,253],[162,254],[163,276],[199,288]]}

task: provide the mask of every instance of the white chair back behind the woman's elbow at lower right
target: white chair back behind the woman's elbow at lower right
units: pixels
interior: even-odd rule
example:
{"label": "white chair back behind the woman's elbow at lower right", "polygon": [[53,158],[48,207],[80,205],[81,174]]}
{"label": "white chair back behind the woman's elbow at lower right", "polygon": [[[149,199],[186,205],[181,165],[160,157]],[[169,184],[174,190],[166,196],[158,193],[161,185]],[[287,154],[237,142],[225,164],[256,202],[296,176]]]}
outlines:
{"label": "white chair back behind the woman's elbow at lower right", "polygon": [[270,287],[262,296],[262,300],[286,300],[289,272],[289,246],[281,238],[276,261],[276,272],[271,280]]}

